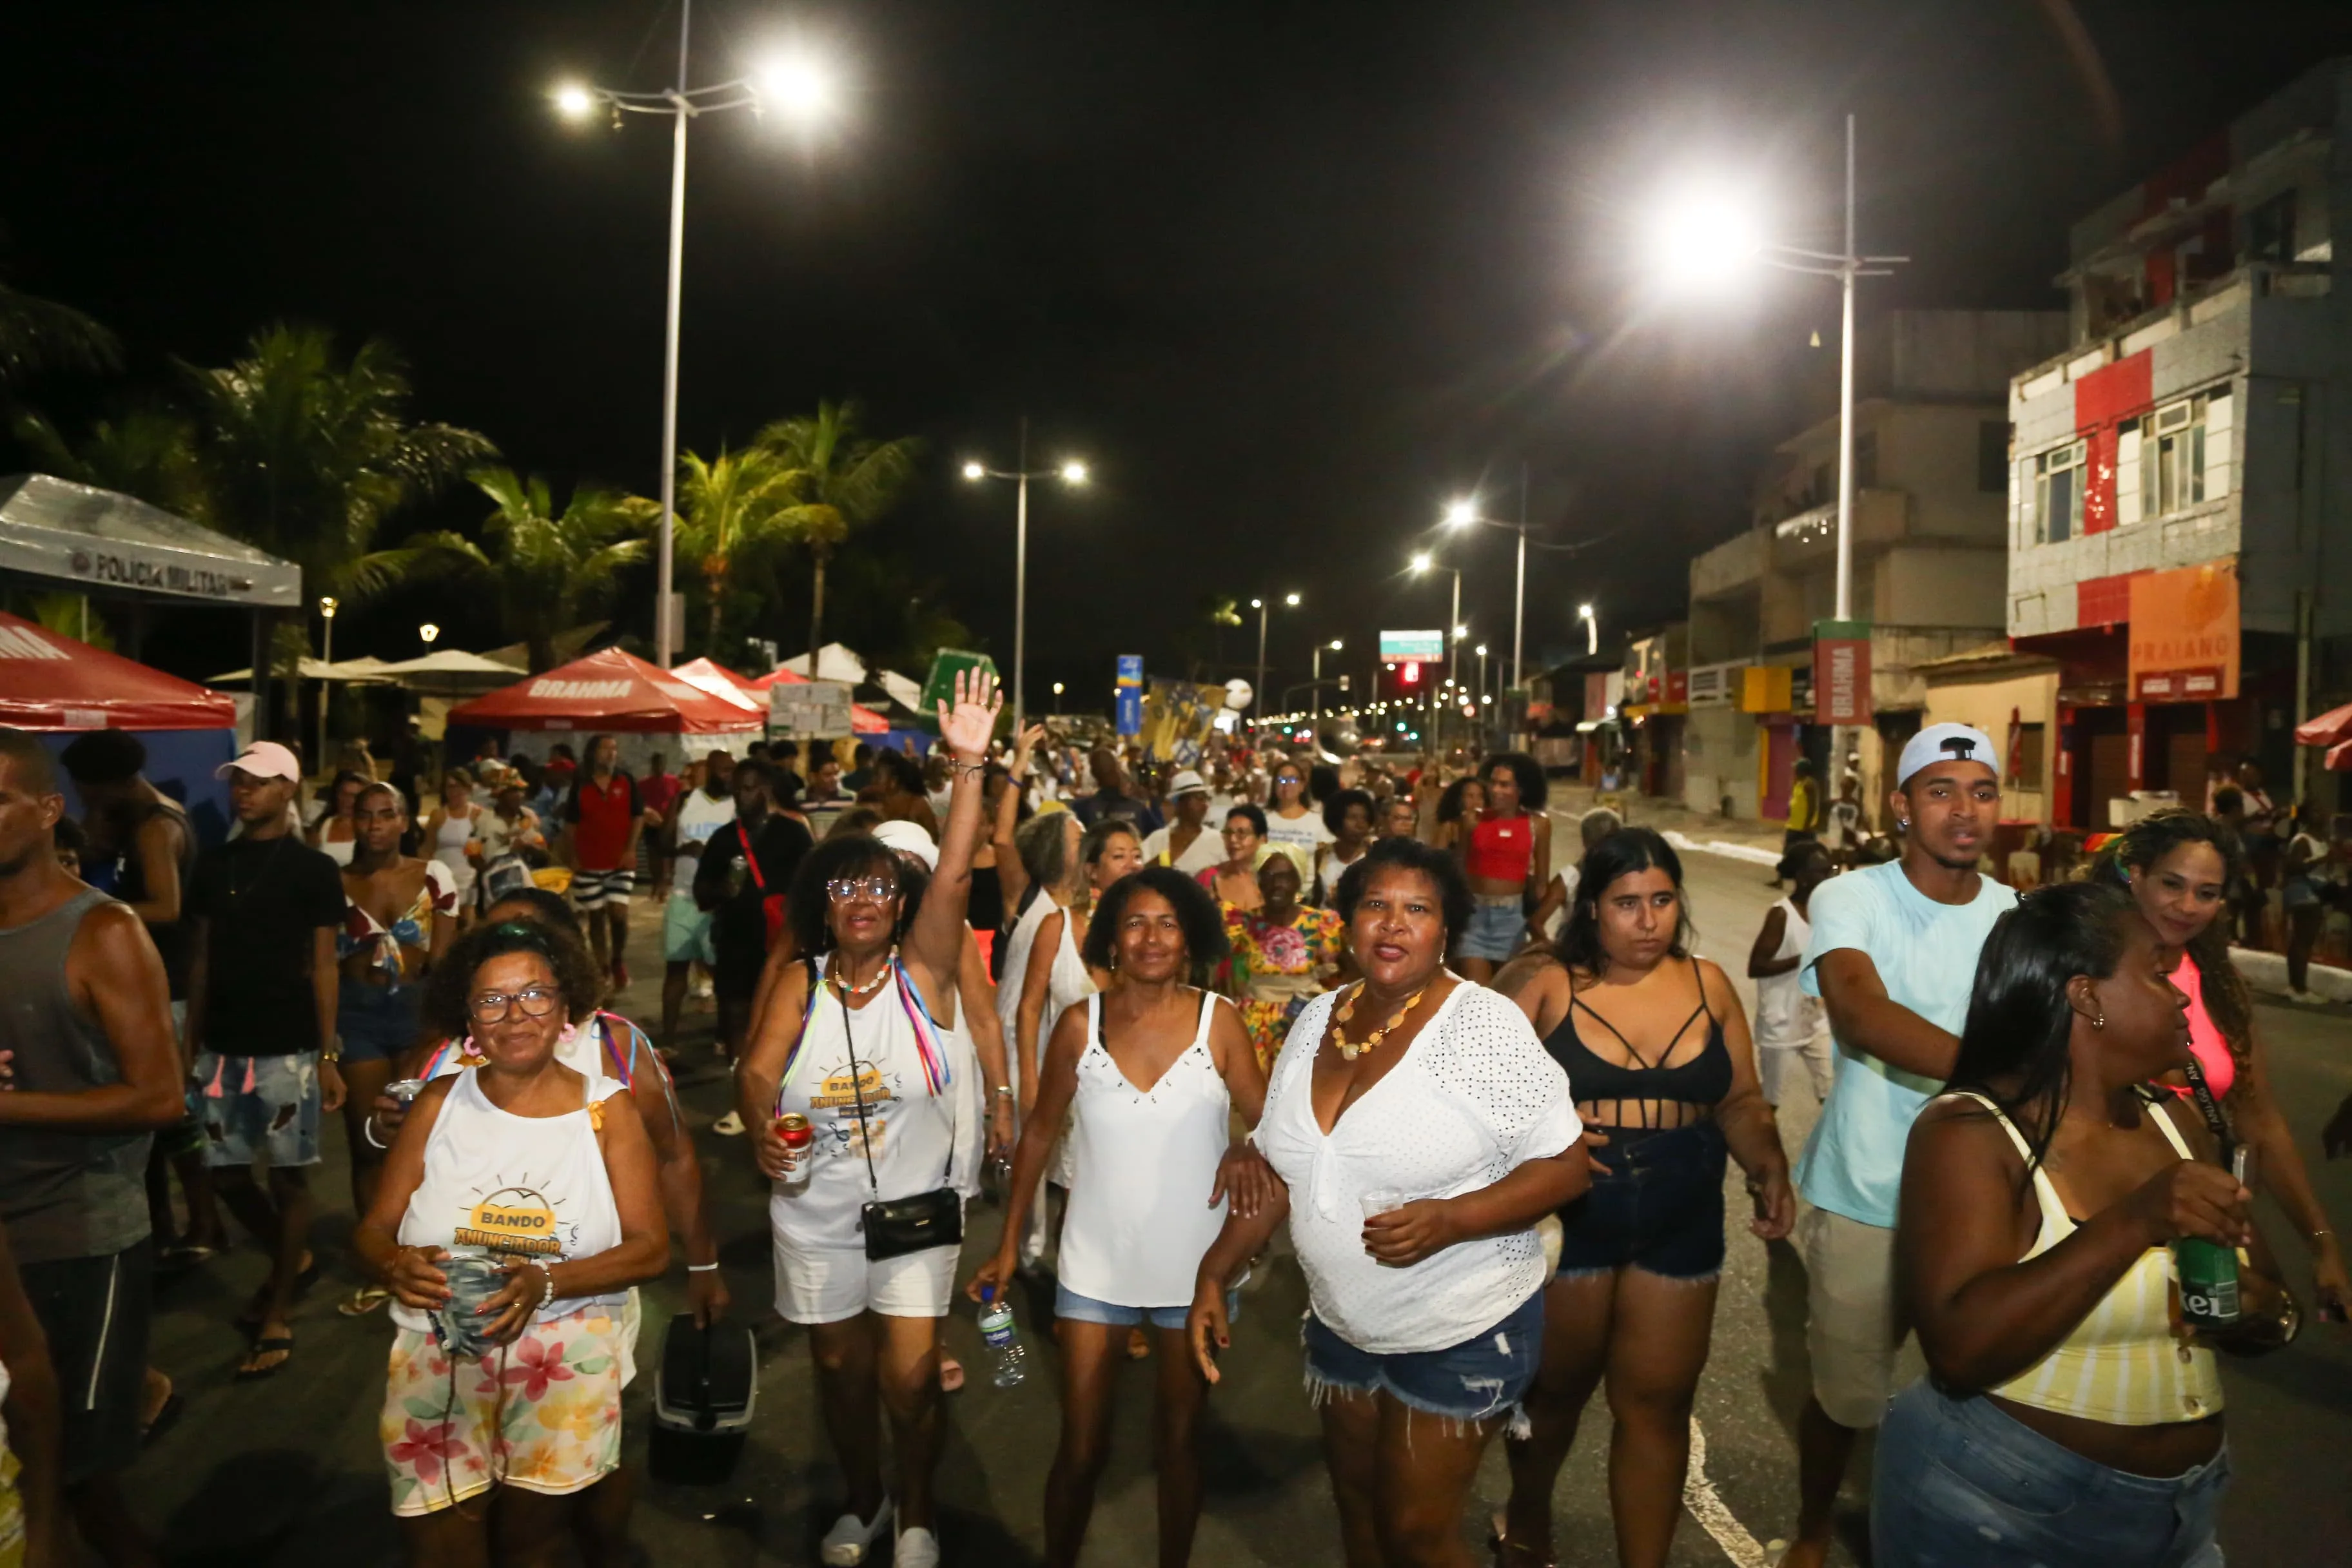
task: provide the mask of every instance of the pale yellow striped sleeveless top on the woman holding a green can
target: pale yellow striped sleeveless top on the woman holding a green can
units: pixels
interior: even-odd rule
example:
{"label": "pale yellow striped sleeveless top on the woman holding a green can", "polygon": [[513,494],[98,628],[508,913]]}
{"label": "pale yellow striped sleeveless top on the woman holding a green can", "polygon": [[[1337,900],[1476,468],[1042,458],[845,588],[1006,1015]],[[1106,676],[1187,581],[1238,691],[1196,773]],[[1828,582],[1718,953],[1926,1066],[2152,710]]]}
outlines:
{"label": "pale yellow striped sleeveless top on the woman holding a green can", "polygon": [[[1990,1110],[2018,1154],[2032,1161],[2025,1138],[1999,1105],[1978,1093],[1966,1098]],[[2173,1119],[2157,1107],[2150,1107],[2150,1117],[2180,1159],[2192,1159]],[[2034,1199],[2042,1204],[2042,1232],[2025,1258],[2039,1258],[2074,1234],[2074,1218],[2039,1166],[2034,1166]],[[2213,1352],[2173,1338],[2171,1302],[2173,1251],[2152,1246],[2107,1286],[2107,1295],[2074,1324],[2074,1333],[1992,1392],[2034,1410],[2082,1415],[2117,1427],[2159,1427],[2218,1415],[2220,1371],[2213,1366]]]}

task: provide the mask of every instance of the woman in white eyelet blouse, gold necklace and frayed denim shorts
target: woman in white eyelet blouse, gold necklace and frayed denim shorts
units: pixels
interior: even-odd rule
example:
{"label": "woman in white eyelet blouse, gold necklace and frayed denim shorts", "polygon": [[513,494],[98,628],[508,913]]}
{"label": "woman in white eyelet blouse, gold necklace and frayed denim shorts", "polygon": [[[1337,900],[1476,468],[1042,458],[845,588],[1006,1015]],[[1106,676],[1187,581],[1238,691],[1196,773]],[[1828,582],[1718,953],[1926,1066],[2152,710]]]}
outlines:
{"label": "woman in white eyelet blouse, gold necklace and frayed denim shorts", "polygon": [[1479,1455],[1541,1359],[1536,1222],[1585,1190],[1583,1128],[1526,1016],[1446,973],[1470,914],[1454,856],[1381,839],[1338,912],[1364,978],[1310,1001],[1275,1060],[1254,1143],[1279,1182],[1225,1215],[1188,1331],[1216,1382],[1225,1291],[1289,1220],[1345,1561],[1465,1568]]}

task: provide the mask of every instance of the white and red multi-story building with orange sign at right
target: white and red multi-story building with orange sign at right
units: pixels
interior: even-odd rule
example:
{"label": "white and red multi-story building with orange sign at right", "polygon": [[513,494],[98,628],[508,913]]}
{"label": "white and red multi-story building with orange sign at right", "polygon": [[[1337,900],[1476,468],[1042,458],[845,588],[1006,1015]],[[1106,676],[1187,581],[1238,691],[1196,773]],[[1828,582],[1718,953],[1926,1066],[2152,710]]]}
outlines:
{"label": "white and red multi-story building with orange sign at right", "polygon": [[1985,670],[2020,696],[2044,823],[2103,830],[2136,790],[2201,804],[2241,757],[2286,792],[2314,654],[2324,682],[2352,635],[2338,214],[2345,59],[2072,230],[2072,341],[2009,388],[2013,658]]}

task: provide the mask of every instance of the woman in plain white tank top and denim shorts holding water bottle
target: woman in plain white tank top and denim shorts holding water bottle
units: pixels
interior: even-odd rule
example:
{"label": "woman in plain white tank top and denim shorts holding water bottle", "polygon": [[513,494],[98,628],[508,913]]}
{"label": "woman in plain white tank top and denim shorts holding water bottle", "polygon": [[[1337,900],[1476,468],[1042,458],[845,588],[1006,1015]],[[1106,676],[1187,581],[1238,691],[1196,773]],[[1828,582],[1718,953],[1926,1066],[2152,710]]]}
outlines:
{"label": "woman in plain white tank top and denim shorts holding water bottle", "polygon": [[1185,1354],[1185,1312],[1200,1258],[1225,1225],[1218,1166],[1232,1107],[1256,1126],[1265,1103],[1240,1013],[1192,985],[1223,952],[1216,900],[1178,870],[1155,865],[1103,893],[1084,959],[1112,971],[1115,985],[1054,1023],[1004,1239],[967,1286],[983,1300],[1011,1284],[1023,1213],[1068,1117],[1075,1171],[1054,1298],[1063,1408],[1044,1488],[1047,1563],[1077,1561],[1110,1458],[1115,1366],[1145,1321],[1162,1354],[1160,1561],[1192,1549],[1202,1493],[1192,1434],[1209,1385]]}

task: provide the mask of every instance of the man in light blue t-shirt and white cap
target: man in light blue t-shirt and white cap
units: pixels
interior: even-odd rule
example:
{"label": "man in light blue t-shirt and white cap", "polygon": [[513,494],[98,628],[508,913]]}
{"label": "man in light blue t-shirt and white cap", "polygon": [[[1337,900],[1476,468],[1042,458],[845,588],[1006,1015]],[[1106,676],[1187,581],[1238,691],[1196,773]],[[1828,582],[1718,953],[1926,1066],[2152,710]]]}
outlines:
{"label": "man in light blue t-shirt and white cap", "polygon": [[1837,1081],[1797,1161],[1811,1204],[1806,1349],[1813,1396],[1797,1420],[1797,1537],[1788,1568],[1828,1561],[1830,1514],[1853,1434],[1893,1396],[1896,1192],[1912,1117],[1952,1077],[1976,954],[2016,891],[1976,870],[2002,813],[2002,762],[1966,724],[1931,724],[1903,748],[1886,797],[1903,858],[1813,891],[1802,985],[1837,1039]]}

